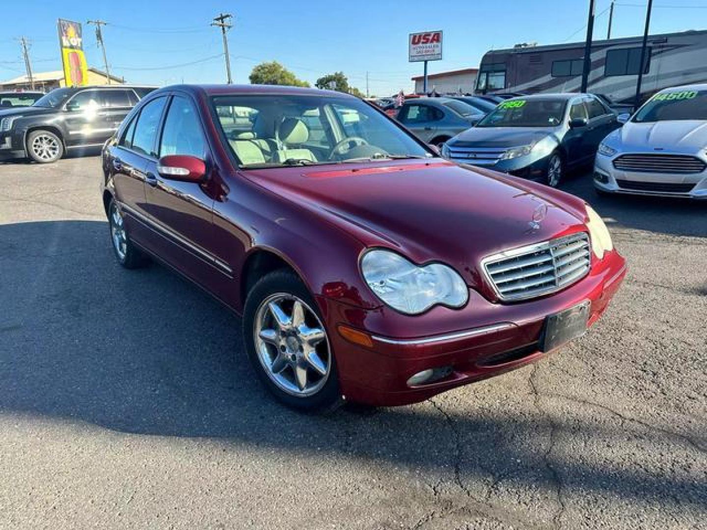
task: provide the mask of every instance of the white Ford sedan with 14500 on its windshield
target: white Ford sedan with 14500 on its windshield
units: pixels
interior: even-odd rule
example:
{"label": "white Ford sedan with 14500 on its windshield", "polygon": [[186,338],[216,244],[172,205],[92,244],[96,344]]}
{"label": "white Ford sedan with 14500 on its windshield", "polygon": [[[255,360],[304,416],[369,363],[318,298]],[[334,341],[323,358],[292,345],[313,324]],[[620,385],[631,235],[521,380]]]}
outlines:
{"label": "white Ford sedan with 14500 on its windshield", "polygon": [[595,188],[707,199],[706,146],[707,84],[661,90],[602,141]]}

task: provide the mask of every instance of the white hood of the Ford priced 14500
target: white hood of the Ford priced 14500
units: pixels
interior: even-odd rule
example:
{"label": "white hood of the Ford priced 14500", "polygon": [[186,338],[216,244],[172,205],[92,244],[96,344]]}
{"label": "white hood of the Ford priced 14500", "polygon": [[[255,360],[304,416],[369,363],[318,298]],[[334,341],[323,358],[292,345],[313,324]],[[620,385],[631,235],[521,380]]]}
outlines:
{"label": "white hood of the Ford priced 14500", "polygon": [[622,150],[675,149],[696,152],[707,146],[707,122],[686,119],[670,122],[628,122],[614,133]]}

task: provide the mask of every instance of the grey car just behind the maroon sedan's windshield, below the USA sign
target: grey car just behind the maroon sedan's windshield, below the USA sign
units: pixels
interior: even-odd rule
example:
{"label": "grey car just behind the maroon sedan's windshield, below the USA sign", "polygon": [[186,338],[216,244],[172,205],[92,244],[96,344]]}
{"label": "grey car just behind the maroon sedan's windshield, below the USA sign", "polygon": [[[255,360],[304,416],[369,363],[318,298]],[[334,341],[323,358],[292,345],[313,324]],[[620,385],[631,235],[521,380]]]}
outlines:
{"label": "grey car just behind the maroon sedan's windshield, below the USA sign", "polygon": [[451,98],[409,100],[396,114],[397,120],[421,141],[438,147],[483,117],[474,107]]}

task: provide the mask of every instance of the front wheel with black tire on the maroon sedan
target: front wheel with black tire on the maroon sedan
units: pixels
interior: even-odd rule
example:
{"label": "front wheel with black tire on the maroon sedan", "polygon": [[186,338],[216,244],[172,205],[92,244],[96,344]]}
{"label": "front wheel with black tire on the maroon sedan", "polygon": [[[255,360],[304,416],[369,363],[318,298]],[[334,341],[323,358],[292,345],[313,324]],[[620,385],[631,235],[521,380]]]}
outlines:
{"label": "front wheel with black tire on the maroon sedan", "polygon": [[341,404],[327,330],[295,273],[274,271],[254,285],[243,311],[243,342],[259,379],[279,401],[313,412]]}

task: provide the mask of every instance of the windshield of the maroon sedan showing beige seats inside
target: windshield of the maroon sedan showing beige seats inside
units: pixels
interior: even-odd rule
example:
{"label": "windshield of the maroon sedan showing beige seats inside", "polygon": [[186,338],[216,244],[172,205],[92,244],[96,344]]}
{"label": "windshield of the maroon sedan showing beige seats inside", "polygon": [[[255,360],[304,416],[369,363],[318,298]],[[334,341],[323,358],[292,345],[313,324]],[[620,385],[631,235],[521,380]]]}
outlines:
{"label": "windshield of the maroon sedan showing beige seats inside", "polygon": [[223,136],[242,167],[366,162],[434,155],[356,98],[233,95],[212,99]]}

